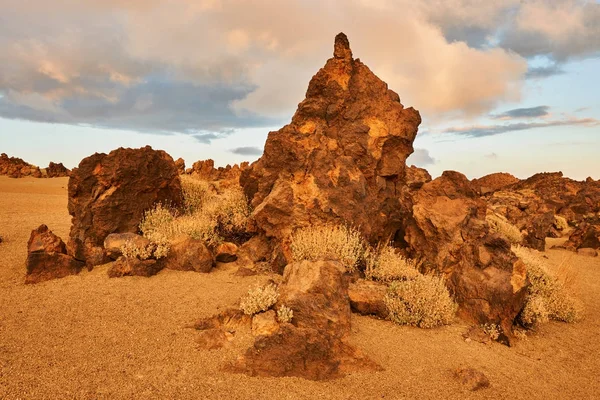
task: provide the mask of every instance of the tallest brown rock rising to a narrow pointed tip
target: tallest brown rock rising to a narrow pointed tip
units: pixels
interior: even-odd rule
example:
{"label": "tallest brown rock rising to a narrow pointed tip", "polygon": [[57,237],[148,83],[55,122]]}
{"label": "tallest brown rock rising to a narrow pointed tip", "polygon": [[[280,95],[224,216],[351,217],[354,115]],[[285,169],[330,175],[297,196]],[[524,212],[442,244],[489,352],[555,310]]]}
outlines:
{"label": "tallest brown rock rising to a narrow pointed tip", "polygon": [[292,122],[269,133],[242,172],[258,230],[285,240],[298,227],[348,222],[372,242],[389,239],[403,219],[398,192],[420,122],[337,35]]}

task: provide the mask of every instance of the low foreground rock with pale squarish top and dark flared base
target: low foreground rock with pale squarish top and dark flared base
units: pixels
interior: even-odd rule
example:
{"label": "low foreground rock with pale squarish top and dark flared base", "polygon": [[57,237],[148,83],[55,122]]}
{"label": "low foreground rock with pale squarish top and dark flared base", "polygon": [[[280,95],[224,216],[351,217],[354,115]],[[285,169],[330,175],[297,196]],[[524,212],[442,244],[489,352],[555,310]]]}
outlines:
{"label": "low foreground rock with pale squarish top and dark flared base", "polygon": [[325,380],[380,369],[345,340],[350,332],[350,304],[341,264],[288,265],[279,304],[294,311],[294,325],[283,323],[276,333],[258,336],[231,370]]}

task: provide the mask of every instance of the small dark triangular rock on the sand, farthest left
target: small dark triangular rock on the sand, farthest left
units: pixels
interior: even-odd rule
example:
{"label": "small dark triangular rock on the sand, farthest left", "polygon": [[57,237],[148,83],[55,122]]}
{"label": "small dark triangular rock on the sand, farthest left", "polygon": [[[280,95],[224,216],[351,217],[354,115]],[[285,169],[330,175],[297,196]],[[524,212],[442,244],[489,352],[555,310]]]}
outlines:
{"label": "small dark triangular rock on the sand, farthest left", "polygon": [[31,231],[27,242],[27,276],[25,283],[78,274],[83,263],[67,255],[65,243],[46,225]]}

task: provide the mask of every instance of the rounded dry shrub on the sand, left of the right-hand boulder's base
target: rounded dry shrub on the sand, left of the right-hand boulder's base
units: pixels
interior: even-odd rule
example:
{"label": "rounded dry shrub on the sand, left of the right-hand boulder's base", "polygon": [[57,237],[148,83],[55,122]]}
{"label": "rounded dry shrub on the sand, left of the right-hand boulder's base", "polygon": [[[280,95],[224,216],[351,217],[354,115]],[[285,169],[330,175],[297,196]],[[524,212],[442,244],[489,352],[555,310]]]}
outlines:
{"label": "rounded dry shrub on the sand, left of the right-hand boulder's base", "polygon": [[450,324],[457,309],[443,279],[430,275],[392,282],[384,301],[392,321],[420,328]]}

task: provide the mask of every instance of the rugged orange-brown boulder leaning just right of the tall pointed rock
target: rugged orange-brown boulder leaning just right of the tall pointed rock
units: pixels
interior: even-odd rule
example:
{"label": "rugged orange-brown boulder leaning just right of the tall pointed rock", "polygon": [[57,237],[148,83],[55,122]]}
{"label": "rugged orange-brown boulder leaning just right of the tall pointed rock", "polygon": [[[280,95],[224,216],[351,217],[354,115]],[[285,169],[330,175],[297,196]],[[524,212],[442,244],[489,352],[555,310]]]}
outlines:
{"label": "rugged orange-brown boulder leaning just right of the tall pointed rock", "polygon": [[412,201],[412,218],[396,242],[405,244],[409,256],[423,259],[424,271],[446,277],[460,316],[499,324],[510,335],[528,281],[510,244],[490,233],[485,201],[454,171],[423,185]]}

